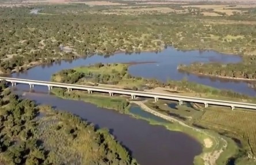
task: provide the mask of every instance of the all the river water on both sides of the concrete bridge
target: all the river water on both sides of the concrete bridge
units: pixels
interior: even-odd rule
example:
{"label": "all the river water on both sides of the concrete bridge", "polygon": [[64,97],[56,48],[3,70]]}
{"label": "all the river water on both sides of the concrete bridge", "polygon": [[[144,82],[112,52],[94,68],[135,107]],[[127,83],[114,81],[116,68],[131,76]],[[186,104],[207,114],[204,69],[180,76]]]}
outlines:
{"label": "all the river water on both sides of the concrete bridge", "polygon": [[[247,87],[242,81],[222,81],[210,78],[201,78],[192,74],[186,75],[177,71],[177,65],[189,64],[194,61],[208,62],[239,62],[239,56],[228,56],[212,51],[207,52],[182,52],[173,48],[167,48],[161,53],[145,52],[140,54],[118,53],[108,58],[103,56],[92,56],[85,59],[73,61],[61,61],[51,65],[41,65],[29,69],[23,73],[13,73],[12,77],[28,78],[31,80],[49,81],[51,75],[62,69],[75,66],[89,65],[97,62],[155,62],[131,65],[129,72],[134,76],[157,78],[166,81],[168,78],[181,80],[186,76],[189,81],[199,82],[220,89],[231,89],[232,91],[255,96],[255,91]],[[17,85],[18,91],[28,91],[28,85]],[[97,124],[98,127],[106,127],[121,142],[132,156],[142,165],[155,164],[193,164],[194,156],[200,154],[201,146],[196,140],[181,132],[167,131],[164,127],[150,125],[147,121],[135,119],[129,115],[123,115],[116,111],[97,108],[95,105],[83,103],[82,101],[63,100],[49,95],[47,87],[35,87],[36,93],[26,92],[24,97],[35,100],[38,104],[49,104],[58,109],[72,112],[83,119]],[[134,109],[132,111],[135,111]],[[137,110],[139,111],[139,110]],[[147,115],[150,116],[150,115]]]}

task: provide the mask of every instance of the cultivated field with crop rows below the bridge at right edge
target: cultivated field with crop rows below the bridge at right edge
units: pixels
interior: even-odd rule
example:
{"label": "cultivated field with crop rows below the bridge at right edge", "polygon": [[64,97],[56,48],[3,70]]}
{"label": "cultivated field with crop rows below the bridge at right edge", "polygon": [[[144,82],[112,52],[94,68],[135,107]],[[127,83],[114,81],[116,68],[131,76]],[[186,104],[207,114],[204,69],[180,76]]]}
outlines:
{"label": "cultivated field with crop rows below the bridge at right edge", "polygon": [[223,133],[234,134],[249,143],[250,149],[256,154],[256,113],[227,111],[224,109],[206,110],[200,123],[218,129]]}

